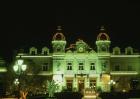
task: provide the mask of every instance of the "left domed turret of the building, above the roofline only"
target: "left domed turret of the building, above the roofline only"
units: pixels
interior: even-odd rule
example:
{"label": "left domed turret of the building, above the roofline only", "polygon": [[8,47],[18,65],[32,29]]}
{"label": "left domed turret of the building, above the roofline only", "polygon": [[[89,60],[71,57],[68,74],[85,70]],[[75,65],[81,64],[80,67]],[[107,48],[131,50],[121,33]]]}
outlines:
{"label": "left domed turret of the building, above the roofline only", "polygon": [[62,30],[61,26],[58,26],[57,32],[53,36],[53,40],[52,40],[53,53],[65,52],[66,40],[61,30]]}

